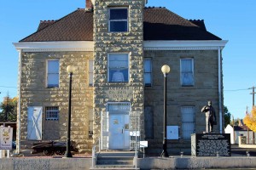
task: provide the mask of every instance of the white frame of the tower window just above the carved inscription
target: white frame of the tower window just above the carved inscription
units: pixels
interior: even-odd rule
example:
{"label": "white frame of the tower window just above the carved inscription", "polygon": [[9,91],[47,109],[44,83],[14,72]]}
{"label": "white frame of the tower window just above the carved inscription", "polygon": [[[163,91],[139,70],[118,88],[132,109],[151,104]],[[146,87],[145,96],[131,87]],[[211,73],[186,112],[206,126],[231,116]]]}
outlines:
{"label": "white frame of the tower window just above the carved inscription", "polygon": [[112,56],[112,55],[119,55],[119,54],[126,54],[127,55],[127,67],[117,67],[116,69],[118,70],[118,69],[127,69],[127,81],[124,79],[124,81],[120,81],[120,82],[129,82],[129,80],[130,80],[130,68],[129,68],[129,62],[130,62],[130,54],[129,53],[109,53],[108,54],[108,82],[115,82],[115,81],[113,81],[112,79],[113,79],[113,77],[110,77],[110,70],[112,69],[112,68],[110,68],[110,57]]}

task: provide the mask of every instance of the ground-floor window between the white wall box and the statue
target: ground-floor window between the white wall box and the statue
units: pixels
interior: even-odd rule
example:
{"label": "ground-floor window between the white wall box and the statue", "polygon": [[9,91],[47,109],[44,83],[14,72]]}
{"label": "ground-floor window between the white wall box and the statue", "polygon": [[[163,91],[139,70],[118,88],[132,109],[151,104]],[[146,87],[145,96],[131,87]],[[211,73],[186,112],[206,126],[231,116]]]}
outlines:
{"label": "ground-floor window between the white wall box and the statue", "polygon": [[[185,112],[185,109],[187,109],[187,111],[188,109],[191,109],[191,112]],[[189,118],[187,118],[185,117],[186,114],[192,114],[192,115],[190,115]],[[191,134],[195,133],[195,106],[193,105],[181,106],[181,118],[182,118],[183,139],[191,139]],[[187,129],[186,125],[193,127],[193,129]]]}

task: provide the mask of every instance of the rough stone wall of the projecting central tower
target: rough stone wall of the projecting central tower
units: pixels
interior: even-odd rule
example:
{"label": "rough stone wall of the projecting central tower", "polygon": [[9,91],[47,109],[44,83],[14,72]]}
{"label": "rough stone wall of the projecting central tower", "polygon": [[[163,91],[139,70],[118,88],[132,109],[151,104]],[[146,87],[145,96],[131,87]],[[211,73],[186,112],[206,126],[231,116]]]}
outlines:
{"label": "rough stone wall of the projecting central tower", "polygon": [[[127,7],[127,32],[108,31],[108,8]],[[129,53],[129,82],[108,82],[108,53]],[[131,111],[140,111],[143,117],[143,0],[96,0],[94,6],[94,134],[100,136],[100,112],[108,102],[131,102]],[[106,96],[108,87],[131,87],[129,99]],[[143,123],[142,123],[143,127]],[[96,142],[96,141],[95,141]]]}

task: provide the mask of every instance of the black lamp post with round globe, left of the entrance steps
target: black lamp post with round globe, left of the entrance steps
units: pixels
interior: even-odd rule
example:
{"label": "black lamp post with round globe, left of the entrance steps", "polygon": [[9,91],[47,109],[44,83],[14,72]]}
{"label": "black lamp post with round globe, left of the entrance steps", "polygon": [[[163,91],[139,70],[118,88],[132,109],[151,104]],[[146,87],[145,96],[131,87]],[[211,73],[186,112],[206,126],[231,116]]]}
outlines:
{"label": "black lamp post with round globe, left of the entrance steps", "polygon": [[69,90],[68,90],[68,118],[67,118],[67,150],[65,157],[72,157],[70,150],[70,127],[71,127],[71,94],[72,94],[72,76],[73,76],[73,66],[67,66],[67,73],[69,75]]}

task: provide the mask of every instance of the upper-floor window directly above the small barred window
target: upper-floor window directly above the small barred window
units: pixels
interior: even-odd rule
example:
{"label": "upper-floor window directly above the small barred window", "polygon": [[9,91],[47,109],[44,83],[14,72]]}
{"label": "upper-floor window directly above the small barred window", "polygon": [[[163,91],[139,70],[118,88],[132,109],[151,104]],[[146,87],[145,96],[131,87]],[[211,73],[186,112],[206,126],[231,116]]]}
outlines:
{"label": "upper-floor window directly above the small barred window", "polygon": [[47,87],[59,88],[59,60],[47,62]]}

